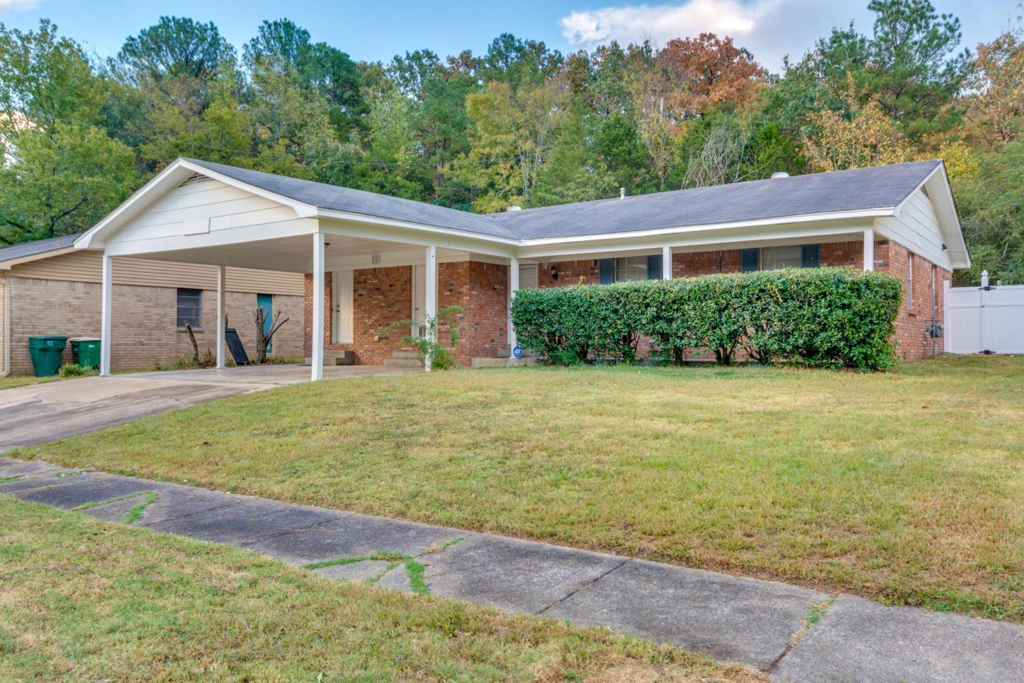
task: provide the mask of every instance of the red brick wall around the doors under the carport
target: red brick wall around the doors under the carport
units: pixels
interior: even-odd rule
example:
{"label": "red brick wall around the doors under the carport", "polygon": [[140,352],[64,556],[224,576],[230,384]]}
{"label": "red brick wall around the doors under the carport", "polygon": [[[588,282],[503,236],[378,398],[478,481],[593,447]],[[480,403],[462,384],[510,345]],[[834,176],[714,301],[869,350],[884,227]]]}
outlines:
{"label": "red brick wall around the doors under the carport", "polygon": [[[399,349],[409,328],[397,329],[386,337],[381,328],[411,317],[413,308],[413,267],[395,266],[356,270],[352,273],[352,344],[331,344],[332,274],[325,276],[325,352],[352,351],[360,365],[381,365]],[[312,355],[312,275],[305,279],[305,355]],[[459,344],[456,359],[468,365],[472,358],[498,355],[507,344],[508,266],[475,260],[437,265],[437,307],[461,306],[465,312],[456,316]],[[438,339],[445,346],[451,338],[446,325],[438,329]]]}

